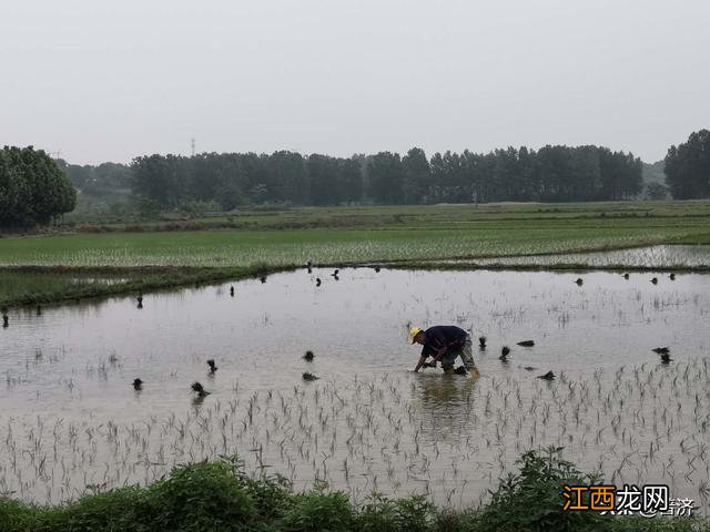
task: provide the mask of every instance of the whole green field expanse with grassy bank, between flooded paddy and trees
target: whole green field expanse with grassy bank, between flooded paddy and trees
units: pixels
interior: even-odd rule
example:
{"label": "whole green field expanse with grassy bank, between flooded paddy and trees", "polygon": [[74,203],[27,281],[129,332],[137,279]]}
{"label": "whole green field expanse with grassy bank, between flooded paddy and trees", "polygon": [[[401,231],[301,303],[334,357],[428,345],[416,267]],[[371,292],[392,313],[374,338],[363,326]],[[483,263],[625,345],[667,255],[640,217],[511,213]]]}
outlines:
{"label": "whole green field expanse with grassy bank, between flooded paddy and trees", "polygon": [[[426,267],[446,259],[710,244],[710,202],[310,207],[84,229],[0,238],[0,305],[237,279],[310,259]],[[95,282],[114,276],[122,280]]]}

